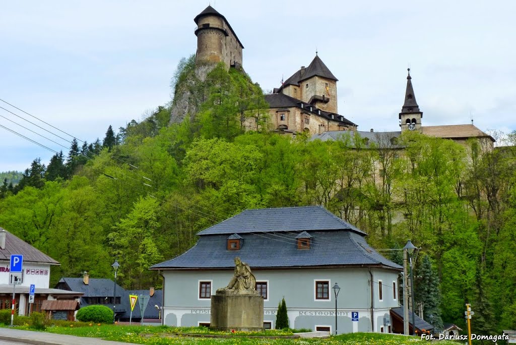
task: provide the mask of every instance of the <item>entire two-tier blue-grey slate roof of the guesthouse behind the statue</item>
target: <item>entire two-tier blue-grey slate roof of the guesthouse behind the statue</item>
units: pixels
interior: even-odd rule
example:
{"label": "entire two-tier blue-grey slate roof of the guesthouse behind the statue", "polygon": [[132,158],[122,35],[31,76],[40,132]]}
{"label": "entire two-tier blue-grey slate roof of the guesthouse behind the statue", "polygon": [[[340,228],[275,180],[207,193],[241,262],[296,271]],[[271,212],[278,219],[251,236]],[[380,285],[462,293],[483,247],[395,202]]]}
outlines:
{"label": "entire two-tier blue-grey slate roof of the guesthouse behind the statue", "polygon": [[[303,231],[313,237],[308,250],[297,249],[296,237]],[[240,250],[227,250],[228,233],[243,238]],[[356,265],[402,269],[370,247],[364,232],[321,207],[247,210],[199,235],[187,252],[151,269],[232,269],[235,256],[253,269]]]}

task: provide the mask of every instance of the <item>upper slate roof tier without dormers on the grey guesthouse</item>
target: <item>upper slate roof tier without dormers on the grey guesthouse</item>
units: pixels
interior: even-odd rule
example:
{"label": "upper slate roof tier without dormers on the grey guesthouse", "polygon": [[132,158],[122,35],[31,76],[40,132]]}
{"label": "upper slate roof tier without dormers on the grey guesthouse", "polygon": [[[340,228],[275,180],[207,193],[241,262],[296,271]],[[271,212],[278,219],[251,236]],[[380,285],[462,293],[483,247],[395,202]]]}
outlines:
{"label": "upper slate roof tier without dormers on the grey guesthouse", "polygon": [[245,210],[198,233],[198,235],[303,230],[351,230],[365,232],[321,206]]}

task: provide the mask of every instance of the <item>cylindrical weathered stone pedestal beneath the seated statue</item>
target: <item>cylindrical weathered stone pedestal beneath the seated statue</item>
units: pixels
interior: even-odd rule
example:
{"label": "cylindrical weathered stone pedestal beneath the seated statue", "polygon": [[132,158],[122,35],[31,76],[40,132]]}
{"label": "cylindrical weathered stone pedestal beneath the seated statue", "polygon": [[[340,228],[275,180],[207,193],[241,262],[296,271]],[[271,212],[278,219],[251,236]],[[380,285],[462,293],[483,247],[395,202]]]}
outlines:
{"label": "cylindrical weathered stone pedestal beneath the seated statue", "polygon": [[210,328],[262,331],[263,297],[258,291],[217,290],[212,295]]}

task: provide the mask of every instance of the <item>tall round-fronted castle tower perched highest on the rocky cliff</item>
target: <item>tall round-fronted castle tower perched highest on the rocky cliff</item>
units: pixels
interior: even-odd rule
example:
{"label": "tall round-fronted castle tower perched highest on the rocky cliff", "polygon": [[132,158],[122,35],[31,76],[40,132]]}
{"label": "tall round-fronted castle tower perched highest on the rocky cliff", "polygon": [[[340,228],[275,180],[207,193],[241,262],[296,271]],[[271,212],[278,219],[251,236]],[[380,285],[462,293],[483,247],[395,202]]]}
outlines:
{"label": "tall round-fronted castle tower perched highest on the rocky cliff", "polygon": [[197,24],[195,35],[198,64],[222,61],[228,68],[242,65],[244,46],[222,14],[208,6],[193,21]]}

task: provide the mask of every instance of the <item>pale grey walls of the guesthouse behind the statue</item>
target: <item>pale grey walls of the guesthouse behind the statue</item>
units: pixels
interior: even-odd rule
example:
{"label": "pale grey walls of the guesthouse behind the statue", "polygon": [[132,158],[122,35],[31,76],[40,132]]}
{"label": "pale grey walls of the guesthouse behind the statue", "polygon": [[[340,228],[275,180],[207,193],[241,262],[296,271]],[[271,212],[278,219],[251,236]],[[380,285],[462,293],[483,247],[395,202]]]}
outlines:
{"label": "pale grey walls of the guesthouse behind the statue", "polygon": [[[245,261],[245,258],[243,258]],[[252,269],[252,268],[251,268]],[[373,274],[373,319],[374,331],[380,332],[383,316],[389,309],[398,306],[394,300],[392,281],[397,282],[398,272],[371,269]],[[292,328],[331,326],[334,332],[335,300],[331,287],[335,283],[341,291],[337,300],[338,333],[371,332],[370,274],[367,268],[348,269],[253,269],[257,281],[268,280],[268,301],[264,301],[264,321],[275,327],[278,303],[283,297]],[[199,300],[199,281],[212,281],[212,294],[225,287],[233,276],[227,271],[164,271],[165,290],[163,320],[171,326],[197,326],[209,323],[211,300]],[[315,280],[330,281],[330,299],[315,300]],[[382,280],[383,301],[379,301],[378,280]],[[351,312],[359,312],[359,321],[351,321]],[[381,319],[381,322],[380,322]],[[385,332],[387,328],[385,327]]]}

